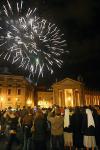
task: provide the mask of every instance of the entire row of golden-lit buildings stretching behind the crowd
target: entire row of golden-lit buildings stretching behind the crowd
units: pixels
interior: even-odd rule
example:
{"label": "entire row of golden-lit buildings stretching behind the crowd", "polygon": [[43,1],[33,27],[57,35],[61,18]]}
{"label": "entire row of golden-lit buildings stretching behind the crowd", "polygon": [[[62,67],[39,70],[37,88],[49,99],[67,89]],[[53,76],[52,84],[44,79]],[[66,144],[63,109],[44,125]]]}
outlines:
{"label": "entire row of golden-lit buildings stretching behind the crowd", "polygon": [[50,107],[59,106],[100,105],[100,91],[91,91],[83,82],[70,78],[52,85],[53,89],[45,86],[35,87],[21,75],[0,74],[0,109],[22,108],[23,106],[39,105]]}

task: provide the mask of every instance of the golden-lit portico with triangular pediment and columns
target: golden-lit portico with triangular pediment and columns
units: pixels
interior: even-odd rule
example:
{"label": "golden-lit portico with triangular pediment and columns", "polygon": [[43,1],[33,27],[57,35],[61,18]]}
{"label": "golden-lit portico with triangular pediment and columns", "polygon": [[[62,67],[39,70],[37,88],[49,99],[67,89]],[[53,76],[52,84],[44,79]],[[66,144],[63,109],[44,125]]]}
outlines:
{"label": "golden-lit portico with triangular pediment and columns", "polygon": [[84,104],[84,84],[65,78],[53,84],[53,103],[59,106],[81,106]]}

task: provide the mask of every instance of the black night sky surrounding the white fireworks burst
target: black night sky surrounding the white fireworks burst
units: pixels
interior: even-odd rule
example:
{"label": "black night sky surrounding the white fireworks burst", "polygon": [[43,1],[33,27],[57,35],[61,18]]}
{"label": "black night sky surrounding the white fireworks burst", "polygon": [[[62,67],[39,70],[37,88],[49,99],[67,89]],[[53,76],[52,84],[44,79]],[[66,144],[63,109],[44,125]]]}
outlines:
{"label": "black night sky surrounding the white fireworks burst", "polygon": [[65,34],[70,53],[63,56],[62,69],[56,69],[49,81],[81,75],[87,86],[100,89],[100,0],[23,1],[26,7],[37,7],[40,16]]}

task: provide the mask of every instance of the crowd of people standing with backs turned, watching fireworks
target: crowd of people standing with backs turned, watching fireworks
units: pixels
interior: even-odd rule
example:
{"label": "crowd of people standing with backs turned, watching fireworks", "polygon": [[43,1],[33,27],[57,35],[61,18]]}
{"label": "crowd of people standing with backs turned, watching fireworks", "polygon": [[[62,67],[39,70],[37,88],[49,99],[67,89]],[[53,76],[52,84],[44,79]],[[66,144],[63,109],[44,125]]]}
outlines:
{"label": "crowd of people standing with backs turned, watching fireworks", "polygon": [[100,107],[9,107],[0,111],[2,136],[5,150],[100,150]]}

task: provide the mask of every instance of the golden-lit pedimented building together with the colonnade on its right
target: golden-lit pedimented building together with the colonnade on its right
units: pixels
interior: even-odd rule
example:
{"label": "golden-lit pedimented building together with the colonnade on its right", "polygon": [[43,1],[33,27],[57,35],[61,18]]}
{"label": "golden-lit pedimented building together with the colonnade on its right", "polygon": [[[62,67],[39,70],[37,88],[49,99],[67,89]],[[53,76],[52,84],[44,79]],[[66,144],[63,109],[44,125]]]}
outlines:
{"label": "golden-lit pedimented building together with the colonnade on its right", "polygon": [[91,91],[76,80],[65,78],[53,84],[53,104],[59,106],[100,105],[100,91]]}

